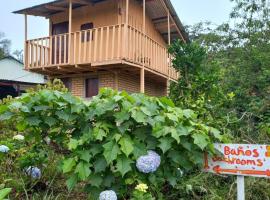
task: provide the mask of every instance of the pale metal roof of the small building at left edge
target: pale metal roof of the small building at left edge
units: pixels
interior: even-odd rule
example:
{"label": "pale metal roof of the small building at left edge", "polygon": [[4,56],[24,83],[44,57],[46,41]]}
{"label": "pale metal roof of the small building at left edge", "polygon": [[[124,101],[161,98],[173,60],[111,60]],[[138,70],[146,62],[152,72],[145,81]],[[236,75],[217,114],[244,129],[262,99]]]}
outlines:
{"label": "pale metal roof of the small building at left edge", "polygon": [[43,75],[24,70],[23,64],[12,56],[0,60],[0,80],[44,84]]}

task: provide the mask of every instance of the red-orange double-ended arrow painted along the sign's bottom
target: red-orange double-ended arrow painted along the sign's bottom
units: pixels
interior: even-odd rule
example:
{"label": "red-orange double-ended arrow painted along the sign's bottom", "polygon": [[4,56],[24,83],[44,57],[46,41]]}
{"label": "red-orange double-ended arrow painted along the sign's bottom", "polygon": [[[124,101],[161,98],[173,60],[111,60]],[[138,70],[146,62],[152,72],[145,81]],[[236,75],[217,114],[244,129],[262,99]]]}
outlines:
{"label": "red-orange double-ended arrow painted along the sign's bottom", "polygon": [[266,175],[270,176],[270,170],[257,171],[257,170],[240,170],[240,169],[222,169],[219,165],[213,167],[213,170],[217,173],[232,173],[232,174],[246,174],[246,175]]}

